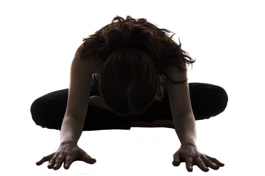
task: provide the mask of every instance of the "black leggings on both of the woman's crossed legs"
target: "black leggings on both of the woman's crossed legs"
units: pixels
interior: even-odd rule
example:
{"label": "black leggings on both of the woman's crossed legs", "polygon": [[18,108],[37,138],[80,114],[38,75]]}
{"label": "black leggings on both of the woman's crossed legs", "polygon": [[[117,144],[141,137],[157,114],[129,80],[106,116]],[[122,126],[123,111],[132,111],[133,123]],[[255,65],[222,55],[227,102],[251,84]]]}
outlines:
{"label": "black leggings on both of the woman's crossed legs", "polygon": [[[227,106],[228,95],[221,86],[192,82],[189,83],[189,93],[195,120],[214,117]],[[91,96],[99,96],[98,89],[93,84]],[[51,92],[36,99],[30,107],[32,119],[42,128],[61,130],[67,100],[68,89]],[[162,102],[154,102],[145,113],[134,117],[115,117],[112,112],[89,104],[83,131],[130,130],[131,121],[152,122],[158,119],[172,119],[167,90]]]}

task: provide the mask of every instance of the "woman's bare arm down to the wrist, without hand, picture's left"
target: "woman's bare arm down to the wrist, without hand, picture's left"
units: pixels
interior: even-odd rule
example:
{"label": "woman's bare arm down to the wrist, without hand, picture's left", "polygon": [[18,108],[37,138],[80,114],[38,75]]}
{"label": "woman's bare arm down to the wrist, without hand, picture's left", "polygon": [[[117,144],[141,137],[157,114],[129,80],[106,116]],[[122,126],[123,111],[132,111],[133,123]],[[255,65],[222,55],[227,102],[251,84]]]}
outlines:
{"label": "woman's bare arm down to the wrist, without hand, picture's left", "polygon": [[61,127],[61,142],[77,143],[84,126],[89,103],[92,75],[97,63],[77,56],[71,64],[70,86],[65,117]]}

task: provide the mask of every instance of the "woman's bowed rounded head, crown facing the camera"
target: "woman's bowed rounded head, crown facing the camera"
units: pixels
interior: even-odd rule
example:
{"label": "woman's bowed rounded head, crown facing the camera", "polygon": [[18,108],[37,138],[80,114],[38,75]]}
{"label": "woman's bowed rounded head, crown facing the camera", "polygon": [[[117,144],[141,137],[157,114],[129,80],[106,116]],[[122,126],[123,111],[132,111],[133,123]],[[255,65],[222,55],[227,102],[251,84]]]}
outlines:
{"label": "woman's bowed rounded head, crown facing the camera", "polygon": [[162,80],[152,59],[143,51],[128,47],[115,51],[102,65],[100,96],[117,115],[144,112],[164,94]]}

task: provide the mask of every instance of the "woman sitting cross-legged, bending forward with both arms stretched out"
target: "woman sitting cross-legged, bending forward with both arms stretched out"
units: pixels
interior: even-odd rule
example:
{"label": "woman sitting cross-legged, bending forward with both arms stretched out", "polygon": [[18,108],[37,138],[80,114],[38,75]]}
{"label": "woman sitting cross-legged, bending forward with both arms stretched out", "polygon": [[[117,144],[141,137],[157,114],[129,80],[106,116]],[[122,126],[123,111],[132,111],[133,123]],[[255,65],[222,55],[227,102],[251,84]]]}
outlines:
{"label": "woman sitting cross-legged, bending forward with both arms stretched out", "polygon": [[226,91],[208,83],[188,83],[187,64],[195,60],[172,40],[166,29],[146,19],[115,17],[111,24],[83,40],[71,65],[69,89],[36,99],[34,122],[60,130],[58,150],[36,162],[68,169],[73,161],[96,160],[77,146],[82,131],[167,127],[176,130],[181,147],[174,166],[186,162],[188,171],[224,166],[196,147],[195,120],[222,113]]}

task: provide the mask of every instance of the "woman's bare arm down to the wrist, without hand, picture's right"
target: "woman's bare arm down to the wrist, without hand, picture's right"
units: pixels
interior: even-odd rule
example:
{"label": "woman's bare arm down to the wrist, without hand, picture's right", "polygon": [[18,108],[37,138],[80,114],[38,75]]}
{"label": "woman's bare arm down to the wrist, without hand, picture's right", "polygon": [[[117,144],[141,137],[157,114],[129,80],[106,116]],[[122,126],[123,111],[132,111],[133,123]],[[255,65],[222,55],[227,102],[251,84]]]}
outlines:
{"label": "woman's bare arm down to the wrist, without hand, picture's right", "polygon": [[[183,65],[184,68],[185,65]],[[180,71],[176,68],[166,70],[168,76],[174,81],[188,79],[187,71]],[[196,144],[196,124],[192,112],[189,83],[172,83],[166,79],[170,109],[176,133],[181,144]]]}

